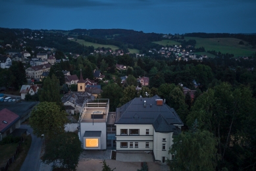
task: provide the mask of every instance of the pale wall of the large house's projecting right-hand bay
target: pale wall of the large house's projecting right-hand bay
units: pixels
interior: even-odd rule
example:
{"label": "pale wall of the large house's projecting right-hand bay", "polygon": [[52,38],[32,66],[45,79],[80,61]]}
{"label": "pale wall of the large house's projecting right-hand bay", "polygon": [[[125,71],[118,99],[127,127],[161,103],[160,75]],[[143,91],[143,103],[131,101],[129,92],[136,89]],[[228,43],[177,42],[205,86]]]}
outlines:
{"label": "pale wall of the large house's projecting right-hand bay", "polygon": [[[168,154],[169,148],[172,146],[172,132],[170,133],[159,133],[154,131],[154,147],[153,152],[155,155],[155,160],[160,160],[162,162],[162,157],[165,157],[165,160],[172,159],[172,155]],[[163,138],[166,141],[163,141]],[[165,150],[163,150],[163,144],[165,144]]]}

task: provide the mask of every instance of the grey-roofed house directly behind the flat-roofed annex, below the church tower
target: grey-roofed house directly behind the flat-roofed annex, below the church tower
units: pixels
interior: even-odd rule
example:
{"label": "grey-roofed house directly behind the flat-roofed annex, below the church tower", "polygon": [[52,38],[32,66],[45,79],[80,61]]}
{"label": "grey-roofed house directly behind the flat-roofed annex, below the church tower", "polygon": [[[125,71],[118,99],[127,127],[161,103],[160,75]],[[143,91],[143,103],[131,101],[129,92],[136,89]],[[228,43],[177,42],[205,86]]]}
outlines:
{"label": "grey-roofed house directly behind the flat-roofed annex, below the church tower", "polygon": [[74,112],[80,112],[84,101],[93,101],[95,97],[87,92],[68,92],[64,94],[61,101],[64,106],[74,107]]}

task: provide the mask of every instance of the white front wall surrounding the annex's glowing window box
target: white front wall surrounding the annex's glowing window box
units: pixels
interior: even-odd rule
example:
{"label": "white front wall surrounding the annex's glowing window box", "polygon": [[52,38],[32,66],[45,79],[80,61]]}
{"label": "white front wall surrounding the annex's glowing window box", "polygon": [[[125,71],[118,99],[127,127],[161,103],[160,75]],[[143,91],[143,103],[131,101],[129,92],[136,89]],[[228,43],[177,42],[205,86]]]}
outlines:
{"label": "white front wall surrounding the annex's glowing window box", "polygon": [[107,126],[105,122],[81,122],[80,123],[81,136],[80,141],[84,147],[84,133],[86,131],[101,131],[101,149],[107,149]]}

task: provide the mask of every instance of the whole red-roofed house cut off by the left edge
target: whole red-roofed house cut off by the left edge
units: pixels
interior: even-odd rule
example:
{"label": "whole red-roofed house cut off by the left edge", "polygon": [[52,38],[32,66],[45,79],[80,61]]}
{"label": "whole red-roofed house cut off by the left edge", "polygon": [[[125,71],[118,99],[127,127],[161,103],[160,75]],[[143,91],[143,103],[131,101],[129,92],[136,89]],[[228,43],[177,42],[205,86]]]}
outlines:
{"label": "whole red-roofed house cut off by the left edge", "polygon": [[0,110],[0,141],[16,128],[20,128],[20,116],[8,109]]}

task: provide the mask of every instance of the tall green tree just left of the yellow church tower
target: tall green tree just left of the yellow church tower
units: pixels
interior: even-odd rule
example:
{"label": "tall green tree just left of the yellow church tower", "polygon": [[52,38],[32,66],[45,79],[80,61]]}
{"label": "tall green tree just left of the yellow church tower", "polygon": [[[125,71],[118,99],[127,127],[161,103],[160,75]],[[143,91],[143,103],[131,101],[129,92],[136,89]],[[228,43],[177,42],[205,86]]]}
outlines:
{"label": "tall green tree just left of the yellow church tower", "polygon": [[53,76],[49,76],[44,80],[42,89],[39,90],[39,101],[48,101],[55,102],[57,105],[62,106],[61,96],[60,96],[60,85],[59,80],[53,74]]}

